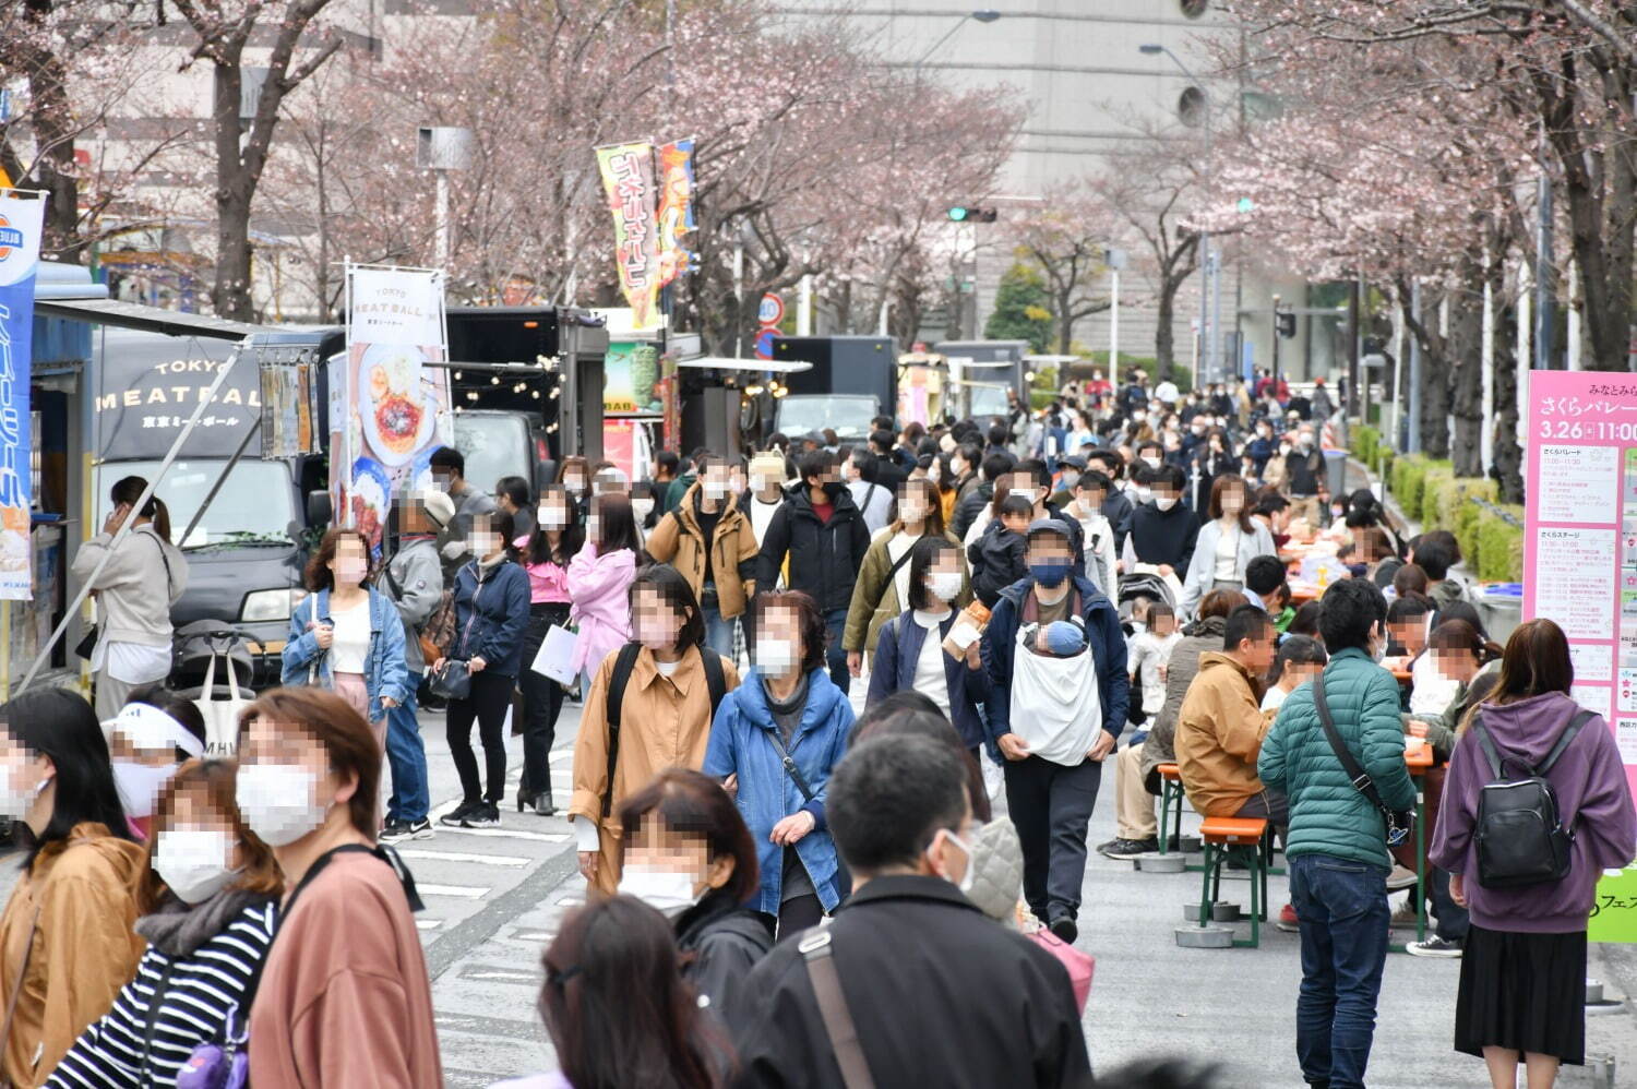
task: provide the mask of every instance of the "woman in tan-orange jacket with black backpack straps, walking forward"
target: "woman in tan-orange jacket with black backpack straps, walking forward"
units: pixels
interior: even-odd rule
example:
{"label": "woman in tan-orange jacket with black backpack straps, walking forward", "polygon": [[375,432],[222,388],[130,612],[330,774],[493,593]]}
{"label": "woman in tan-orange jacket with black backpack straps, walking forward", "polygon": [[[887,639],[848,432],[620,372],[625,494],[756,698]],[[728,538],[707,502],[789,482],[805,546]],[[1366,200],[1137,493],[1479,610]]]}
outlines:
{"label": "woman in tan-orange jacket with black backpack straps, walking forward", "polygon": [[674,567],[637,572],[627,609],[635,642],[602,658],[586,689],[568,804],[579,871],[604,896],[620,881],[619,807],[665,768],[704,763],[717,704],[738,686],[732,660],[706,645],[704,611]]}

